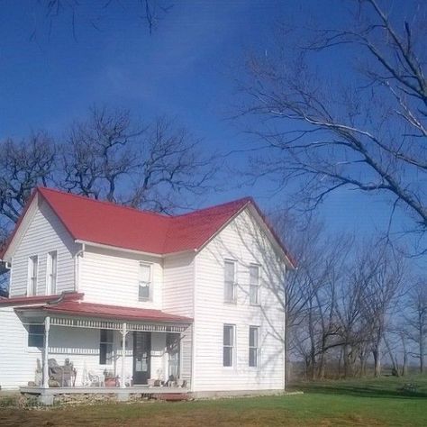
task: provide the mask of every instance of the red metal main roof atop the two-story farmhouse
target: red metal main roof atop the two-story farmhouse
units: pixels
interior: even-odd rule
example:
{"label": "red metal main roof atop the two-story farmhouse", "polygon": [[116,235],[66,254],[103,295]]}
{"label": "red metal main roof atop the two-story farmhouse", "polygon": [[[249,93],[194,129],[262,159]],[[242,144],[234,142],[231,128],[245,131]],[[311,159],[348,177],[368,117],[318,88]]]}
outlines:
{"label": "red metal main roof atop the two-story farmhouse", "polygon": [[[200,249],[248,204],[252,204],[260,213],[259,207],[250,197],[192,213],[168,216],[46,187],[38,187],[29,204],[36,194],[41,195],[50,205],[75,240],[159,255]],[[271,227],[269,229],[272,231]],[[13,236],[14,233],[9,242]],[[295,265],[274,232],[273,236],[286,257]]]}

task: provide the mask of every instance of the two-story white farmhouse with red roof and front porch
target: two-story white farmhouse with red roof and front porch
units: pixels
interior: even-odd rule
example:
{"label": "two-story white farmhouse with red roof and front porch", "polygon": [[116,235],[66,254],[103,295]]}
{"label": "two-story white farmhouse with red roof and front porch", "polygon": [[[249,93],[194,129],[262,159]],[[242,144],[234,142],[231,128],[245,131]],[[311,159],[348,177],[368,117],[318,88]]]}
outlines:
{"label": "two-story white farmhouse with red roof and front porch", "polygon": [[167,216],[37,188],[0,259],[3,389],[285,387],[294,265],[250,198]]}

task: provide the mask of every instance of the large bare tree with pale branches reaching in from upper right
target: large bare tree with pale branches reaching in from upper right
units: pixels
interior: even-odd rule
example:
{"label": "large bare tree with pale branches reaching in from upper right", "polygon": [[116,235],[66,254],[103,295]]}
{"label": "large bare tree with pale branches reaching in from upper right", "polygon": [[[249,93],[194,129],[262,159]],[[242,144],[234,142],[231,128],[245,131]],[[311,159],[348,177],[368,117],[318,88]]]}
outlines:
{"label": "large bare tree with pale branches reaching in from upper right", "polygon": [[[277,48],[248,59],[239,116],[259,118],[249,132],[260,141],[250,173],[275,177],[279,188],[299,183],[313,208],[343,188],[387,195],[391,213],[401,208],[412,221],[405,232],[425,236],[427,8],[420,2],[411,23],[397,23],[376,0],[353,5],[352,26],[282,29]],[[360,60],[325,73],[316,60],[332,49]]]}

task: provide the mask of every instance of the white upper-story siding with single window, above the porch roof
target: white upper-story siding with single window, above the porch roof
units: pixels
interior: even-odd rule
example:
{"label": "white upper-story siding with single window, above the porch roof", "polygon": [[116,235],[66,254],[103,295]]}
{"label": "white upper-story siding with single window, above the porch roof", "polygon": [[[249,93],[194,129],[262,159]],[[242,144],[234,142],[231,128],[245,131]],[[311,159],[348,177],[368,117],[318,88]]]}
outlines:
{"label": "white upper-story siding with single window, above the porch roof", "polygon": [[[152,298],[140,302],[138,286],[141,261],[152,266]],[[159,258],[86,245],[84,256],[79,258],[78,264],[78,291],[85,294],[86,302],[161,309],[163,268]]]}

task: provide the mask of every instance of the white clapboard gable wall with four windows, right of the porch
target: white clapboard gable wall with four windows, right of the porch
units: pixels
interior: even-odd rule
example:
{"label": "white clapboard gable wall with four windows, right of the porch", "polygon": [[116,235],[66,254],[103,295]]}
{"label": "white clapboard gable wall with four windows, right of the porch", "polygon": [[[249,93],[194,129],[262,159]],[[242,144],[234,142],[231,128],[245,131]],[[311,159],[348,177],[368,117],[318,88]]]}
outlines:
{"label": "white clapboard gable wall with four windows, right of the porch", "polygon": [[[237,262],[237,302],[223,302],[223,260]],[[261,268],[259,306],[249,304],[249,266]],[[248,211],[195,257],[195,391],[284,388],[284,313],[269,289],[280,282],[269,241]],[[223,367],[223,324],[235,325],[235,359]],[[249,368],[249,327],[259,326],[259,368]]]}

